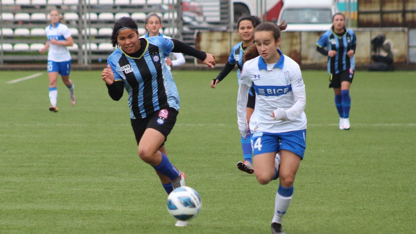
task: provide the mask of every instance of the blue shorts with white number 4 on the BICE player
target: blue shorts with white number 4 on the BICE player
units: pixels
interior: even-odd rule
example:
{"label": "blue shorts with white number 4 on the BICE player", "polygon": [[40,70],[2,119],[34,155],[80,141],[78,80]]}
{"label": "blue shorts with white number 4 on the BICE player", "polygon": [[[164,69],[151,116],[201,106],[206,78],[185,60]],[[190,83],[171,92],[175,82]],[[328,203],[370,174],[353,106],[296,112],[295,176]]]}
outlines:
{"label": "blue shorts with white number 4 on the BICE player", "polygon": [[278,152],[286,149],[303,159],[306,149],[306,129],[292,132],[256,132],[251,135],[253,155]]}

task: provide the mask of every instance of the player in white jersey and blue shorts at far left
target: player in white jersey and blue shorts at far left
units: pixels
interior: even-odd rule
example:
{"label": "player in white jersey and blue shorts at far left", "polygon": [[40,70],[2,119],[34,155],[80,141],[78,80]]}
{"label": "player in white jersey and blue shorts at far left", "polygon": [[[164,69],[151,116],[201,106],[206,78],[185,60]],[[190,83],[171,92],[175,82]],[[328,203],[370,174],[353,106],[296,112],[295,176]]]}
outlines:
{"label": "player in white jersey and blue shorts at far left", "polygon": [[48,41],[45,47],[39,50],[41,54],[48,52],[48,77],[49,77],[49,99],[51,105],[50,111],[57,112],[57,97],[58,90],[56,83],[58,80],[58,73],[62,77],[62,81],[69,90],[69,97],[71,98],[71,104],[74,106],[77,100],[74,95],[74,82],[69,79],[69,72],[71,71],[71,55],[67,46],[74,45],[71,37],[71,32],[67,25],[63,25],[59,22],[61,15],[57,10],[50,12],[51,24],[45,28]]}

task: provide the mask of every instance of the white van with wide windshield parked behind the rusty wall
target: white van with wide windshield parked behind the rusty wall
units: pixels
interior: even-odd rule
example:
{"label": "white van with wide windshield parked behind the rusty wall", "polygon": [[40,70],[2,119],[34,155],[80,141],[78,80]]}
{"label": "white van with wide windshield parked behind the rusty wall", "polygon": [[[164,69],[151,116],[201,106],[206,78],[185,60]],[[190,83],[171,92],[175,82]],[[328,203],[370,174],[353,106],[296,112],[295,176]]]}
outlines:
{"label": "white van with wide windshield parked behind the rusty wall", "polygon": [[326,31],[337,12],[336,0],[285,0],[277,22],[286,21],[285,31]]}

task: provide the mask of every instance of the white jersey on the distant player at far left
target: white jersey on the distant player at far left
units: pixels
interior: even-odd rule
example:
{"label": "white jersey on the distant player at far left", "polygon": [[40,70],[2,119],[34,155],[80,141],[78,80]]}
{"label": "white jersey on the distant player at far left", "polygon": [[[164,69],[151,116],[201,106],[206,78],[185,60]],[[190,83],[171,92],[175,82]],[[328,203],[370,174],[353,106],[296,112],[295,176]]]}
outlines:
{"label": "white jersey on the distant player at far left", "polygon": [[[48,37],[48,42],[51,39],[55,39],[57,41],[65,41],[68,37],[71,36],[71,32],[67,25],[63,25],[61,23],[57,23],[55,26],[49,25],[45,28],[46,36]],[[48,60],[54,62],[65,62],[71,60],[71,54],[66,46],[62,45],[52,45],[49,43],[49,52],[48,52]]]}

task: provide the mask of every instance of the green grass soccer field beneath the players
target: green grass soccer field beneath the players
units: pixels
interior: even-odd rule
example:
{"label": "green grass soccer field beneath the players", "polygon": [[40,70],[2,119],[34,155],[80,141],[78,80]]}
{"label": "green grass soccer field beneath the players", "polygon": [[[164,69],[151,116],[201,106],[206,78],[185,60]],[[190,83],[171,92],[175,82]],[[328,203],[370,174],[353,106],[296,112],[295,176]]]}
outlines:
{"label": "green grass soccer field beneath the players", "polygon": [[[240,172],[235,72],[173,71],[181,96],[166,142],[201,213],[174,227],[154,169],[137,156],[126,93],[107,94],[100,71],[73,71],[77,106],[58,82],[6,84],[34,71],[0,72],[0,233],[267,234],[277,182]],[[358,71],[351,130],[338,129],[325,71],[304,71],[307,149],[283,227],[287,234],[416,233],[416,77]]]}

